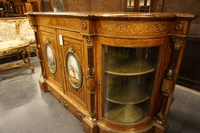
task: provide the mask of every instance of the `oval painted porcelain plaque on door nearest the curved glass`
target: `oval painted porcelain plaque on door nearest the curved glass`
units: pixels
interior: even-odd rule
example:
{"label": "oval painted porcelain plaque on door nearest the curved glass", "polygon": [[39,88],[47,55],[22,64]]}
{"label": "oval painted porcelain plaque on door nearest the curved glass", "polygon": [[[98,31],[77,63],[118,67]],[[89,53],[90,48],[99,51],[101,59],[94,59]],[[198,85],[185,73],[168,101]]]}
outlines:
{"label": "oval painted porcelain plaque on door nearest the curved glass", "polygon": [[66,69],[70,83],[76,89],[82,84],[82,71],[76,55],[69,52],[66,56]]}

